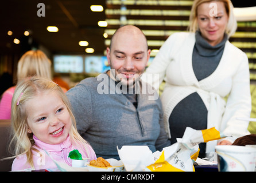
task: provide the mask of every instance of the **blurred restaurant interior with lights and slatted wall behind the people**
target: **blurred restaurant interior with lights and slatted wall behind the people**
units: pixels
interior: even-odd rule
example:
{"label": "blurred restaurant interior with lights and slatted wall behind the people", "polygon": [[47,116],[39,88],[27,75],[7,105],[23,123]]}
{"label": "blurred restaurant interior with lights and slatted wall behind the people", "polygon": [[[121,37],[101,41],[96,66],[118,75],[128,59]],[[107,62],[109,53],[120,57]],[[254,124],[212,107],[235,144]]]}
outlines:
{"label": "blurred restaurant interior with lights and slatted wall behind the people", "polygon": [[[109,68],[106,47],[114,31],[125,24],[138,26],[145,33],[152,61],[170,34],[187,30],[192,3],[192,0],[1,1],[0,77],[9,73],[14,85],[21,55],[30,49],[40,49],[51,59],[53,74],[73,87],[83,78]],[[256,6],[255,1],[232,3],[235,8]],[[103,9],[93,11],[91,5],[101,5]],[[57,27],[57,31],[48,31],[48,26]],[[251,117],[256,118],[256,17],[238,20],[238,29],[230,42],[249,58]],[[162,86],[164,83],[161,89]],[[249,130],[256,133],[256,122],[250,122]]]}

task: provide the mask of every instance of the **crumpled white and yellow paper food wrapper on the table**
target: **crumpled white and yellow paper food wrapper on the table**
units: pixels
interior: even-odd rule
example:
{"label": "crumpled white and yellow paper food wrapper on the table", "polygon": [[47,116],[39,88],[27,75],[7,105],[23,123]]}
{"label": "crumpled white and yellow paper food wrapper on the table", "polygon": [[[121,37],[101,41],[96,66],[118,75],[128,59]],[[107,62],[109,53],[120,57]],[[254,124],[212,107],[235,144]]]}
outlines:
{"label": "crumpled white and yellow paper food wrapper on the table", "polygon": [[187,127],[183,138],[162,150],[158,160],[147,166],[152,172],[194,172],[193,161],[199,154],[199,144],[226,137],[215,128],[195,130]]}

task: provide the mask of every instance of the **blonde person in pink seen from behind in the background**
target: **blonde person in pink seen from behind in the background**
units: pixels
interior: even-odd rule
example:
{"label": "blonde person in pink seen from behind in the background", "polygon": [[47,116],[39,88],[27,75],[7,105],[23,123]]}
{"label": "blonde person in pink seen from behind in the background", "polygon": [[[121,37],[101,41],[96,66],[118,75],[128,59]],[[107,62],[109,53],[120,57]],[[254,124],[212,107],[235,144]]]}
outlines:
{"label": "blonde person in pink seen from behind in the background", "polygon": [[[52,78],[51,71],[52,62],[41,50],[30,50],[22,55],[21,59],[18,61],[17,68],[17,80],[32,77],[34,75]],[[0,101],[0,120],[9,120],[11,117],[11,98],[16,86],[11,86],[7,89]],[[64,92],[67,92],[64,89]]]}

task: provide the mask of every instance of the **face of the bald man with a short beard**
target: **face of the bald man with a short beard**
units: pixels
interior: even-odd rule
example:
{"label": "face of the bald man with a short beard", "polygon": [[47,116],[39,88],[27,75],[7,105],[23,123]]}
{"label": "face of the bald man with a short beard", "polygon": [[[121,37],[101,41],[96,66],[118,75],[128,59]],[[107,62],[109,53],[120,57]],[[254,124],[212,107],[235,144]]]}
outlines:
{"label": "face of the bald man with a short beard", "polygon": [[128,86],[133,86],[139,79],[148,64],[149,56],[146,38],[133,31],[119,32],[111,42],[111,49],[107,48],[108,63],[115,72],[115,80]]}

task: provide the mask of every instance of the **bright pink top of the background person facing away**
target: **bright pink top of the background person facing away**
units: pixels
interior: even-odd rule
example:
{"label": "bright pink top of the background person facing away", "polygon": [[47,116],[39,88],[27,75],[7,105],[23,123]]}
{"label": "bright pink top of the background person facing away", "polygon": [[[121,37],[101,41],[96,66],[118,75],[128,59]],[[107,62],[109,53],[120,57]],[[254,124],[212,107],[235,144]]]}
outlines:
{"label": "bright pink top of the background person facing away", "polygon": [[3,92],[0,101],[0,120],[10,120],[11,118],[11,99],[13,98],[15,87],[9,87],[9,89]]}

